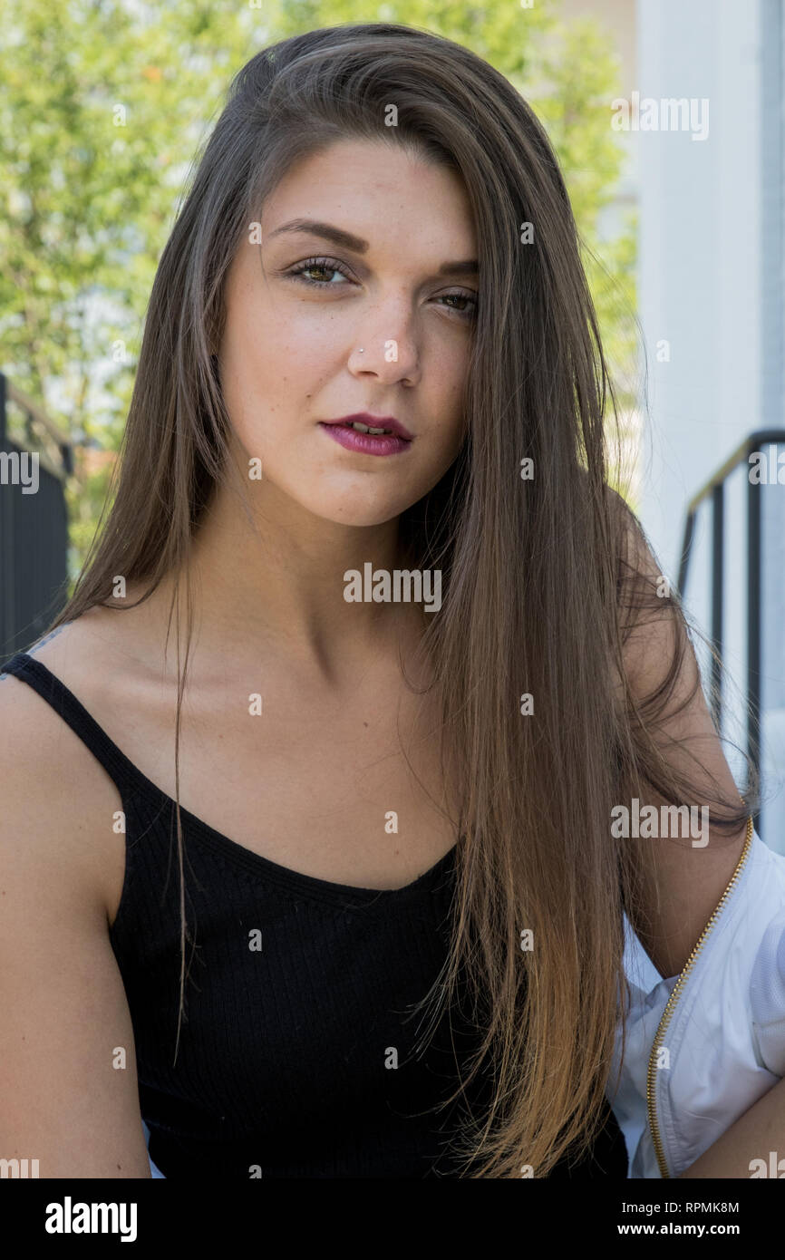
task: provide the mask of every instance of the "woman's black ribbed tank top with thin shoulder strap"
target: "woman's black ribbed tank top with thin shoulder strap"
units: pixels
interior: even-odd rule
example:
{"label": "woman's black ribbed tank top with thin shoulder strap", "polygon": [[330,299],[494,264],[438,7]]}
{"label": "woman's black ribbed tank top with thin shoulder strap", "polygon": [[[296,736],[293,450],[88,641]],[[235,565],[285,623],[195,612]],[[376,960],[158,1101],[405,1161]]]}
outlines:
{"label": "woman's black ribbed tank top with thin shoulder strap", "polygon": [[[490,1074],[459,989],[431,1040],[428,993],[446,956],[455,849],[397,890],[331,883],[278,866],[180,808],[185,1018],[175,803],[129,761],[45,665],[18,653],[28,683],[113,780],[126,828],[122,897],[110,940],[129,1002],[150,1157],[168,1178],[456,1177],[450,1139],[480,1120]],[[263,825],[261,822],[260,825]],[[552,1177],[626,1177],[606,1123],[580,1164]]]}

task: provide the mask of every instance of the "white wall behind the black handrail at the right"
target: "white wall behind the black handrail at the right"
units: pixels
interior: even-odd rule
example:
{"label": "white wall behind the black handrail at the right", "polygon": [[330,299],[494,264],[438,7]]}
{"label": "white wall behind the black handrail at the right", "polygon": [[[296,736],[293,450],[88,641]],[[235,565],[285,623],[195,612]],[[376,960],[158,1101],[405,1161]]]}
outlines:
{"label": "white wall behind the black handrail at the right", "polygon": [[[641,97],[708,98],[708,137],[639,131],[639,302],[649,417],[639,456],[640,514],[678,577],[685,507],[742,438],[785,427],[782,276],[782,0],[638,0]],[[669,362],[656,344],[669,341]],[[746,474],[726,500],[726,663],[746,687]],[[785,486],[765,495],[765,770],[785,769]],[[690,610],[708,631],[708,527],[698,523]],[[730,714],[741,722],[743,703]],[[785,852],[785,798],[761,830]]]}

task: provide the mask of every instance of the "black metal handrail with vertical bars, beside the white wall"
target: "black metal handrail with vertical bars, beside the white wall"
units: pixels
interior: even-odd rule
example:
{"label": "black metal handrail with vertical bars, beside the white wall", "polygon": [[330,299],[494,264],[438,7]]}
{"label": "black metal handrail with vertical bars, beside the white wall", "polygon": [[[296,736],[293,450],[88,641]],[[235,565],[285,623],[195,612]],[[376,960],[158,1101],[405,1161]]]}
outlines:
{"label": "black metal handrail with vertical bars, beside the white wall", "polygon": [[[725,464],[706,481],[687,504],[684,522],[684,541],[679,563],[679,591],[684,593],[689,558],[696,528],[696,515],[701,504],[712,499],[712,643],[717,655],[722,656],[723,643],[723,568],[725,568],[725,485],[740,464],[748,464],[750,455],[762,446],[785,444],[785,428],[760,428],[747,437],[728,455]],[[747,478],[747,755],[756,774],[760,774],[760,747],[755,724],[760,713],[760,670],[761,670],[761,499],[759,489]],[[719,724],[721,702],[721,664],[712,659],[712,682],[714,683],[714,719]],[[755,829],[760,832],[760,818],[753,815]]]}

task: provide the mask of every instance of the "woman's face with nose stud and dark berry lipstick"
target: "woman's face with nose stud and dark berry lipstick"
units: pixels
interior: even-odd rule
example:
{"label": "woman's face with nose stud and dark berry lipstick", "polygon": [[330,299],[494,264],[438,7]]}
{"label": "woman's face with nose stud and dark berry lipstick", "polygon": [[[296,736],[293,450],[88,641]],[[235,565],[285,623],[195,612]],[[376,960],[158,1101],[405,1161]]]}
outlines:
{"label": "woman's face with nose stud and dark berry lipstick", "polygon": [[[241,457],[261,457],[275,496],[381,524],[436,485],[464,440],[478,276],[462,181],[399,146],[340,141],[286,174],[261,228],[229,270],[219,348]],[[373,427],[394,417],[412,440],[369,454],[323,423],[358,412]]]}

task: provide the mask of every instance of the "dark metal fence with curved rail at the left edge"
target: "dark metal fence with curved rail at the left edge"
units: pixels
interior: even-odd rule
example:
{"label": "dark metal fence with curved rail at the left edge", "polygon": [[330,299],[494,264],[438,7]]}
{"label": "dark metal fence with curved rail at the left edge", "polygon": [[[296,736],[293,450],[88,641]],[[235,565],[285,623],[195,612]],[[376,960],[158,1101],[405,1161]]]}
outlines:
{"label": "dark metal fence with curved rail at the left edge", "polygon": [[[9,403],[21,417],[13,432]],[[0,660],[40,638],[66,602],[72,472],[68,438],[0,372]]]}

